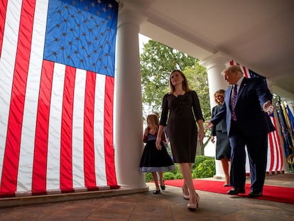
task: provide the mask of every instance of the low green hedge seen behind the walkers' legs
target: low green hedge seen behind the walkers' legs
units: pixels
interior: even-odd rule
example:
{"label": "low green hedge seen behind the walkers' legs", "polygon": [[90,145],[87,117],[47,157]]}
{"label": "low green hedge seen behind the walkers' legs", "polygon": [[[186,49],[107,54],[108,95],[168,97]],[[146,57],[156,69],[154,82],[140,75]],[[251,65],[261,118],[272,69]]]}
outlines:
{"label": "low green hedge seen behind the walkers' legs", "polygon": [[[163,173],[165,180],[183,179],[180,173],[180,166],[175,163],[175,171]],[[214,158],[210,156],[196,156],[195,163],[192,166],[192,178],[210,178],[215,175],[215,162]],[[151,173],[145,173],[145,181],[149,183],[153,180]]]}

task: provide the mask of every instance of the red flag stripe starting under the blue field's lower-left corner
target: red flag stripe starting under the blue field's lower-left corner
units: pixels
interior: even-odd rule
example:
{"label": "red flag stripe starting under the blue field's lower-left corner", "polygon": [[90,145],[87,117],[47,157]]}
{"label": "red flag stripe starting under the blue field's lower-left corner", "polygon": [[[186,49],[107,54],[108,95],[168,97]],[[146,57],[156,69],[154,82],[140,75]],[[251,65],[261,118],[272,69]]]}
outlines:
{"label": "red flag stripe starting under the blue field's lower-left corner", "polygon": [[43,60],[43,68],[40,77],[40,92],[38,99],[35,150],[33,157],[33,193],[38,193],[46,190],[48,130],[53,68],[54,63]]}

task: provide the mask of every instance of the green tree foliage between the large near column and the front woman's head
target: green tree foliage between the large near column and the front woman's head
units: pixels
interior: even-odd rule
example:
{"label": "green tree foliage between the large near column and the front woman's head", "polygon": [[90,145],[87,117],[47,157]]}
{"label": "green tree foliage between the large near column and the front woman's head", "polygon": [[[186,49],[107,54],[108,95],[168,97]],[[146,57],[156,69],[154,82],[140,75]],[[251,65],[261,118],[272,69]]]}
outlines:
{"label": "green tree foliage between the large near column and the front woman's head", "polygon": [[[168,79],[173,70],[185,70],[196,59],[166,45],[149,40],[141,54],[143,110],[160,111],[163,95],[168,92]],[[144,109],[145,108],[145,109]]]}

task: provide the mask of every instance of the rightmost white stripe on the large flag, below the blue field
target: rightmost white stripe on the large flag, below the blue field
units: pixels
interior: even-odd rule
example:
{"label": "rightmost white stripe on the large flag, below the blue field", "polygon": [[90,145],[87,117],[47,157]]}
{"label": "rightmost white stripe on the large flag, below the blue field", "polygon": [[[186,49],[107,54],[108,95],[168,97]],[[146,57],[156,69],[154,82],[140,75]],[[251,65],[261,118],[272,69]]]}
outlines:
{"label": "rightmost white stripe on the large flag, below the blue field", "polygon": [[104,153],[104,96],[105,75],[96,75],[94,104],[94,154],[96,185],[107,185]]}

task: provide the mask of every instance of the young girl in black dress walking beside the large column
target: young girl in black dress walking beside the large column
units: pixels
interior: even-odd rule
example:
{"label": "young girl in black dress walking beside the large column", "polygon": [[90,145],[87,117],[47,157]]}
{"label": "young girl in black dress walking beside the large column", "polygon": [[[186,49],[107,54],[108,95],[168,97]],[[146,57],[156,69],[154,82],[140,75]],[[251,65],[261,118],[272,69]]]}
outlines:
{"label": "young girl in black dress walking beside the large column", "polygon": [[[163,172],[174,171],[175,164],[163,144],[163,142],[166,142],[164,133],[162,135],[160,147],[156,147],[156,136],[159,124],[158,116],[156,114],[149,114],[146,121],[147,127],[144,130],[143,136],[143,142],[146,143],[146,145],[141,157],[140,171],[152,173],[154,183],[156,184],[156,190],[154,190],[153,193],[158,194],[160,193],[160,188],[161,190],[165,190]],[[160,188],[156,172],[158,172],[160,178]]]}

